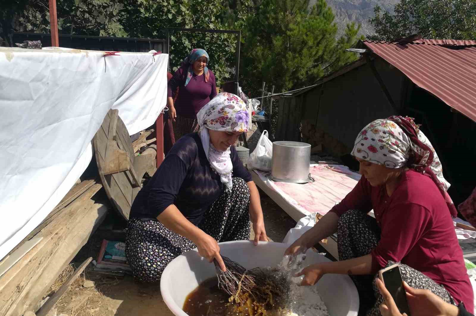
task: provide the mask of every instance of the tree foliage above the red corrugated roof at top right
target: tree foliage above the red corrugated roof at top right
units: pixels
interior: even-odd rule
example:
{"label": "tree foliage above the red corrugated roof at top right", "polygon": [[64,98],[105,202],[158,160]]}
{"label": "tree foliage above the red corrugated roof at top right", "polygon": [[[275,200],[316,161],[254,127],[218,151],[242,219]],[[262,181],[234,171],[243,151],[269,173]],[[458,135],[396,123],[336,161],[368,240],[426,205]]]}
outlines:
{"label": "tree foliage above the red corrugated roof at top right", "polygon": [[412,34],[427,39],[476,39],[475,0],[401,0],[395,14],[374,8],[369,20],[375,40],[395,40]]}

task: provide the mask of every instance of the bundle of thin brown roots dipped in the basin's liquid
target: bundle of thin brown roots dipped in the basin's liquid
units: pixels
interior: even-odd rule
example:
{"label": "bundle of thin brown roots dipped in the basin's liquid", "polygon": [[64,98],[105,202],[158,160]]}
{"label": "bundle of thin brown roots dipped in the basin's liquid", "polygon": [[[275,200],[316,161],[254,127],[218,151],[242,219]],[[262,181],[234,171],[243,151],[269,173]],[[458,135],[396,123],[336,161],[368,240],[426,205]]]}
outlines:
{"label": "bundle of thin brown roots dipped in the basin's liquid", "polygon": [[227,270],[223,272],[216,260],[218,287],[228,293],[228,301],[241,315],[266,315],[270,309],[284,306],[289,295],[288,277],[276,268],[247,270],[239,263],[223,257]]}

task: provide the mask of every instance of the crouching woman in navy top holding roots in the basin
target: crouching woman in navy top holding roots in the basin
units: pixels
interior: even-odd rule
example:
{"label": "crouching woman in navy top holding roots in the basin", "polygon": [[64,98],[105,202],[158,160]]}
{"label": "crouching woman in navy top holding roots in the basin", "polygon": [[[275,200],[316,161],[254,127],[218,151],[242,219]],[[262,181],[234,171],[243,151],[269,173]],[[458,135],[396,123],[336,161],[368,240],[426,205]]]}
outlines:
{"label": "crouching woman in navy top holding roots in the basin", "polygon": [[233,147],[248,130],[245,103],[220,93],[198,112],[200,131],[175,143],[149,183],[135,198],[129,215],[126,256],[134,277],[159,281],[167,264],[198,248],[212,262],[218,242],[267,241],[258,189]]}

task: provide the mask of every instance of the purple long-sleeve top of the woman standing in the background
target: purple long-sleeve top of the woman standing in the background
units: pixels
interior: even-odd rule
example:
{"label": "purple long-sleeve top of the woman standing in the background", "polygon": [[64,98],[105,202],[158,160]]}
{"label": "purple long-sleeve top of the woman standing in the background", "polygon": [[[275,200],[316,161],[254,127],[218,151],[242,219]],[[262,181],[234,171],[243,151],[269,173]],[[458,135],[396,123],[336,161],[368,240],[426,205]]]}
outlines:
{"label": "purple long-sleeve top of the woman standing in the background", "polygon": [[205,76],[197,76],[192,72],[192,78],[185,86],[187,68],[180,67],[167,86],[167,97],[172,97],[172,91],[178,90],[178,97],[175,101],[175,110],[178,116],[195,119],[198,111],[217,95],[217,81],[215,74],[208,69],[210,79],[205,82]]}

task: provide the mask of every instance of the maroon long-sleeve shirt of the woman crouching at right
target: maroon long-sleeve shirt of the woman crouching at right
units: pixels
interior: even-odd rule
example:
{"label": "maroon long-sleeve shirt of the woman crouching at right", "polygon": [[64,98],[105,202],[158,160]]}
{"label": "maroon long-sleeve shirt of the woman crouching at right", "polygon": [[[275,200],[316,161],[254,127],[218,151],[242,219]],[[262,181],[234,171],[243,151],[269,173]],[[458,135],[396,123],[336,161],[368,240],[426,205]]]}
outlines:
{"label": "maroon long-sleeve shirt of the woman crouching at right", "polygon": [[381,228],[380,242],[371,253],[373,272],[389,260],[406,264],[445,286],[473,313],[473,288],[463,252],[445,200],[431,178],[406,171],[389,197],[385,185],[372,187],[362,177],[331,212],[341,216],[349,209],[368,213],[372,208]]}

